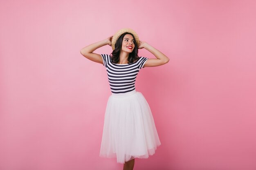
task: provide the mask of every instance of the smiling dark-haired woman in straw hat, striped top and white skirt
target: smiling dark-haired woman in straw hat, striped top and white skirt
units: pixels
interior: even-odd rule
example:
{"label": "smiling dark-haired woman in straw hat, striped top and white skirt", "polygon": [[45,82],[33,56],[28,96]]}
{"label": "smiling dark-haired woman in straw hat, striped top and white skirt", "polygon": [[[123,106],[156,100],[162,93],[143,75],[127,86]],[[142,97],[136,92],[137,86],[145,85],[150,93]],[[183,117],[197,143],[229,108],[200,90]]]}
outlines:
{"label": "smiling dark-haired woman in straw hat, striped top and white skirt", "polygon": [[[112,53],[96,54],[94,50],[104,45],[112,46]],[[145,48],[156,59],[138,57],[138,49]],[[150,107],[135,90],[135,79],[141,68],[160,66],[169,59],[139,40],[132,29],[121,29],[105,40],[81,49],[81,54],[105,66],[112,95],[108,98],[101,141],[101,157],[116,157],[124,163],[124,170],[132,170],[135,158],[153,155],[160,140]]]}

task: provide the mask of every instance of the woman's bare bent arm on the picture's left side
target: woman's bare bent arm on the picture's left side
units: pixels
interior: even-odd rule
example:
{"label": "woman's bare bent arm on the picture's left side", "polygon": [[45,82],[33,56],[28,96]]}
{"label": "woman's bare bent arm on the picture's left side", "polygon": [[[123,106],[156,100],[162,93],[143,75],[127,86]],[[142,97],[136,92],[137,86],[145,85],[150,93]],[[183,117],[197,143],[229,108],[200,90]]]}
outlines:
{"label": "woman's bare bent arm on the picture's left side", "polygon": [[97,63],[101,63],[103,64],[103,60],[101,55],[97,54],[97,53],[92,53],[93,51],[95,51],[96,49],[99,49],[101,46],[104,45],[110,45],[111,46],[111,37],[108,37],[105,40],[101,40],[99,42],[95,42],[93,44],[90,44],[88,46],[85,46],[83,49],[80,50],[80,53],[88,58],[89,60],[92,60],[93,62],[97,62]]}

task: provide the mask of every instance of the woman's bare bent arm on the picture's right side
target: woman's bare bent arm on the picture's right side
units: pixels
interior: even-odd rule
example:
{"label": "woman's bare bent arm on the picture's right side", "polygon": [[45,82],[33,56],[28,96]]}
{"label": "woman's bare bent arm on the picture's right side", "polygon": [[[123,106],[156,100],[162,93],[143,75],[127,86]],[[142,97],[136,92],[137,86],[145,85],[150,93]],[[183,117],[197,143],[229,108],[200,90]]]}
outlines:
{"label": "woman's bare bent arm on the picture's right side", "polygon": [[169,62],[169,58],[166,57],[166,55],[155,49],[153,46],[150,46],[147,42],[139,41],[139,49],[142,48],[148,50],[157,57],[157,59],[148,59],[145,62],[144,67],[160,66]]}

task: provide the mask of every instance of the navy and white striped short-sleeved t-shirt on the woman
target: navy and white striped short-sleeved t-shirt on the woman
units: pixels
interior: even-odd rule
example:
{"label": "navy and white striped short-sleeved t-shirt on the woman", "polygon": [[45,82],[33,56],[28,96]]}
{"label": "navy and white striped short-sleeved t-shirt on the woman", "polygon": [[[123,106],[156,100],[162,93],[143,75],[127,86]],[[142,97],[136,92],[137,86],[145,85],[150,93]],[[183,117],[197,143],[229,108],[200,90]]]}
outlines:
{"label": "navy and white striped short-sleeved t-shirt on the woman", "polygon": [[111,56],[101,54],[103,65],[106,67],[108,82],[112,93],[126,93],[135,89],[135,79],[148,58],[139,57],[131,64],[114,64]]}

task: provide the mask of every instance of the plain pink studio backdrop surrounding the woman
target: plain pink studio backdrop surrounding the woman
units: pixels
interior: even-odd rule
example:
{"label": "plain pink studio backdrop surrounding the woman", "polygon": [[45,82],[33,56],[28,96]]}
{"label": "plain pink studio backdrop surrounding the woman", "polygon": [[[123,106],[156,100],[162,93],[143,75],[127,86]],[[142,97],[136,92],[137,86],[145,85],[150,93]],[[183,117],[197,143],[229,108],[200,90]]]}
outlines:
{"label": "plain pink studio backdrop surrounding the woman", "polygon": [[126,27],[170,58],[137,77],[162,145],[134,170],[255,170],[254,2],[1,1],[0,170],[122,169],[99,157],[111,92],[80,49]]}

